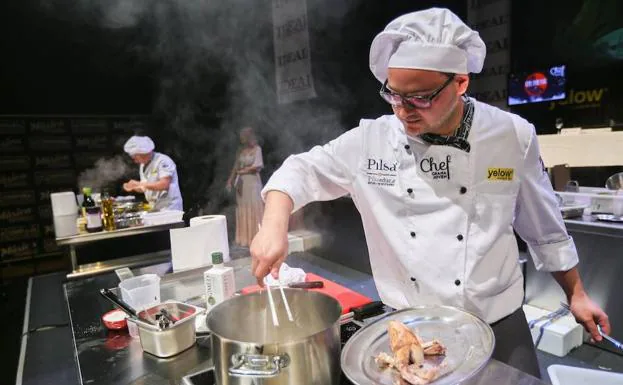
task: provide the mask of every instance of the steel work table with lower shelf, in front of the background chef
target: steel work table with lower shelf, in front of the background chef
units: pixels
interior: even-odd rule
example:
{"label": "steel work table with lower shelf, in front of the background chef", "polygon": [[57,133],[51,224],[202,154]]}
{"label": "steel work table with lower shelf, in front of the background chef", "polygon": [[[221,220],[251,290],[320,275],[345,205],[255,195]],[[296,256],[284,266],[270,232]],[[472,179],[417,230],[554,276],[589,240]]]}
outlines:
{"label": "steel work table with lower shelf, in front of the background chef", "polygon": [[159,225],[136,226],[112,231],[78,234],[69,237],[56,238],[56,244],[58,244],[59,246],[69,246],[72,272],[67,275],[67,278],[77,278],[93,274],[101,274],[122,267],[134,267],[139,265],[164,262],[167,260],[167,258],[170,257],[169,251],[166,250],[163,253],[149,253],[148,255],[137,255],[126,258],[110,259],[106,261],[98,261],[96,263],[78,265],[78,255],[76,252],[76,248],[81,245],[123,237],[137,236],[141,234],[155,233],[159,231],[166,231],[184,226],[185,223],[183,221],[178,221]]}

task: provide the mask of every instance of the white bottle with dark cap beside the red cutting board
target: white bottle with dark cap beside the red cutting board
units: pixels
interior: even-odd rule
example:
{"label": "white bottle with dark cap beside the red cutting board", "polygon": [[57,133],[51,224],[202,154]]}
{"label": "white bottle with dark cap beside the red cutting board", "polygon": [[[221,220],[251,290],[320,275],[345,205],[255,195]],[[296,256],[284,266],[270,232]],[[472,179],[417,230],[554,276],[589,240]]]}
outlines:
{"label": "white bottle with dark cap beside the red cutting board", "polygon": [[212,268],[203,273],[206,290],[206,309],[209,312],[236,292],[234,268],[223,265],[223,253],[212,253]]}

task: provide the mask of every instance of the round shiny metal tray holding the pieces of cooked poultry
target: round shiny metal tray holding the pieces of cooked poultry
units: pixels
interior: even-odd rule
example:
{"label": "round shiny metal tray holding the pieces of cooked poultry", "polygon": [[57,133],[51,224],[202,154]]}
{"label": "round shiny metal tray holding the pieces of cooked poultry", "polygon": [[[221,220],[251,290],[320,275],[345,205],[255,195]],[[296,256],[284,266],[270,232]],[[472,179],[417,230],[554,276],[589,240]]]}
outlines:
{"label": "round shiny metal tray holding the pieces of cooked poultry", "polygon": [[[392,369],[380,369],[374,357],[391,353],[387,324],[401,321],[426,341],[438,339],[447,348],[442,376],[435,385],[458,384],[482,369],[491,358],[495,336],[480,318],[451,306],[418,306],[388,314],[355,333],[342,349],[342,370],[356,385],[393,385]],[[438,357],[433,357],[438,361]]]}

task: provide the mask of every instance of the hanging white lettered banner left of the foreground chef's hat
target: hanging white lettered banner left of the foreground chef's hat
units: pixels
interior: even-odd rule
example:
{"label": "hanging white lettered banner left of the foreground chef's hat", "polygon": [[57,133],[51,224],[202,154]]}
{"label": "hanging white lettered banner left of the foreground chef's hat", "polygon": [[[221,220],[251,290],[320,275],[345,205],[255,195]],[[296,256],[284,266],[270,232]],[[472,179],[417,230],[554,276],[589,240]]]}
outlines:
{"label": "hanging white lettered banner left of the foreground chef's hat", "polygon": [[273,0],[273,42],[278,103],[315,98],[306,0]]}

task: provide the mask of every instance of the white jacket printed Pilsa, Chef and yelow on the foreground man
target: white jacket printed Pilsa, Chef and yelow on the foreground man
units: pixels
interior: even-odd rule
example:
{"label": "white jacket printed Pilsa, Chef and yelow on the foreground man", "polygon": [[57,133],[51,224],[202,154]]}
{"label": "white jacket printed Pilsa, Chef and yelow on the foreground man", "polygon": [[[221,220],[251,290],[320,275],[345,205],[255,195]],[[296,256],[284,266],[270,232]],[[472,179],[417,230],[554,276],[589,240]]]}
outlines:
{"label": "white jacket printed Pilsa, Chef and yelow on the foreground man", "polygon": [[409,145],[394,116],[361,120],[330,143],[285,160],[262,194],[294,210],[350,194],[363,221],[374,281],[387,305],[464,308],[489,323],[518,309],[522,273],[513,227],[537,269],[578,263],[534,126],[474,102],[471,151]]}

